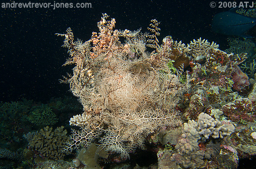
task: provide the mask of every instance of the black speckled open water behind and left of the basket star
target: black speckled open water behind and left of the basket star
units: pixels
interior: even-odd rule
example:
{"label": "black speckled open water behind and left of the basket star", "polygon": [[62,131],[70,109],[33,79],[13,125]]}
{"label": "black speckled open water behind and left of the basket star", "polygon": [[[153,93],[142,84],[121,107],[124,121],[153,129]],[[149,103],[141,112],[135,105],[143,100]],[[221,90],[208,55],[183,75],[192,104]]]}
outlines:
{"label": "black speckled open water behind and left of the basket star", "polygon": [[[1,0],[1,3],[12,3]],[[29,1],[15,1],[29,2]],[[35,0],[40,3],[91,3],[92,8],[0,8],[0,101],[21,98],[48,101],[52,97],[70,96],[69,86],[60,84],[72,66],[62,67],[68,58],[62,48],[63,37],[55,33],[73,30],[75,39],[88,40],[102,13],[116,19],[116,29],[147,31],[151,19],[160,24],[160,42],[171,35],[185,44],[192,39],[208,39],[221,49],[227,48],[226,36],[211,31],[214,14],[230,8],[211,8],[210,1],[102,1]]]}

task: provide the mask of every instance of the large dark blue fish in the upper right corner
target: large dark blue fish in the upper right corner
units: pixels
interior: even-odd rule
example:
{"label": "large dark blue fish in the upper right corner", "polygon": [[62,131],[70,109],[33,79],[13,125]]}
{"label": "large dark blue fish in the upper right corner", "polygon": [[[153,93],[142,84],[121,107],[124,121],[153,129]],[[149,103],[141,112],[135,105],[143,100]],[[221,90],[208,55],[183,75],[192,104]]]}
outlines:
{"label": "large dark blue fish in the upper right corner", "polygon": [[246,31],[256,25],[256,18],[236,13],[237,8],[215,14],[212,19],[212,31],[224,35],[252,38]]}

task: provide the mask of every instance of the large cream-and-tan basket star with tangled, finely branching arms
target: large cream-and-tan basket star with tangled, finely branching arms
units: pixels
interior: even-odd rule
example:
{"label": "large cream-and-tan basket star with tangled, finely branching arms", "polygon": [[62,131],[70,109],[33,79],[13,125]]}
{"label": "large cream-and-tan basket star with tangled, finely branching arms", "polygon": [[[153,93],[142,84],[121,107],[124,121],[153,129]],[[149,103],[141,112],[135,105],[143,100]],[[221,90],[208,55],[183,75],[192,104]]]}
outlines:
{"label": "large cream-and-tan basket star with tangled, finely branching arms", "polygon": [[[66,65],[76,64],[73,75],[63,82],[70,83],[84,107],[82,115],[70,119],[71,125],[81,129],[73,130],[66,149],[87,147],[101,137],[105,149],[126,159],[137,147],[144,149],[145,138],[160,127],[180,125],[175,106],[179,96],[189,90],[190,78],[184,73],[186,80],[181,82],[183,69],[173,74],[168,68],[172,52],[168,44],[159,48],[154,43],[159,51],[149,55],[145,34],[140,30],[113,31],[115,19],[108,21],[107,17],[103,14],[99,33],[93,32],[87,42],[73,42],[69,28],[67,34],[57,34],[65,37],[64,47],[71,56]],[[155,31],[160,30],[157,25]],[[120,36],[126,39],[124,45]]]}

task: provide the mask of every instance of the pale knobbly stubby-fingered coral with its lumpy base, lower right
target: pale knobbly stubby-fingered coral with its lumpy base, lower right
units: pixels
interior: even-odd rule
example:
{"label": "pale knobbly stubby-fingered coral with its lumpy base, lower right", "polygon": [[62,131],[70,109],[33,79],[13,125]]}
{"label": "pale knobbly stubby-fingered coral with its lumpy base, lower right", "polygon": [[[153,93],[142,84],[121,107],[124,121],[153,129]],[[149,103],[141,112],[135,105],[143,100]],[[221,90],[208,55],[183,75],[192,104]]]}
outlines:
{"label": "pale knobbly stubby-fingered coral with its lumpy base, lower right", "polygon": [[200,113],[197,122],[189,120],[183,124],[175,151],[165,149],[158,152],[159,169],[179,168],[179,165],[192,169],[206,167],[215,152],[207,148],[204,142],[209,136],[222,139],[234,131],[235,127],[230,121],[219,121],[206,113]]}

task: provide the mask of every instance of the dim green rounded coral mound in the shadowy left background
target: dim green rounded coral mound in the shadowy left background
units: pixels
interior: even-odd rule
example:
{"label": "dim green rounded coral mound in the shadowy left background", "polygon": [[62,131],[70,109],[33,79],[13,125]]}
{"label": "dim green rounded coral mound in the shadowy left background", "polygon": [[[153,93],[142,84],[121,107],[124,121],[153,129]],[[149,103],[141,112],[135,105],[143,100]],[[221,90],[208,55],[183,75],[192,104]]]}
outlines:
{"label": "dim green rounded coral mound in the shadowy left background", "polygon": [[57,123],[58,118],[47,104],[32,107],[32,111],[28,116],[28,120],[33,124],[53,125]]}

